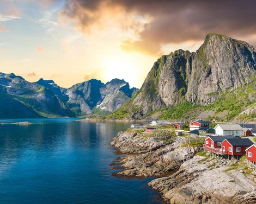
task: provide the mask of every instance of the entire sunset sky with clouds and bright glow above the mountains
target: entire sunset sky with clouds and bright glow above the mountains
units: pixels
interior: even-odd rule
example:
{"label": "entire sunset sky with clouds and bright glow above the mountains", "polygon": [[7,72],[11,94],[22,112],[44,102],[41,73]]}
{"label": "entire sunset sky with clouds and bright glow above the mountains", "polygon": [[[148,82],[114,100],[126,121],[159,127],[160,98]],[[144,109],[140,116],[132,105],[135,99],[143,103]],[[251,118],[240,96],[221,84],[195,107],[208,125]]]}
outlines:
{"label": "entire sunset sky with clouds and bright glow above the mountains", "polygon": [[139,88],[161,55],[194,52],[209,33],[256,46],[255,10],[254,0],[0,0],[0,72]]}

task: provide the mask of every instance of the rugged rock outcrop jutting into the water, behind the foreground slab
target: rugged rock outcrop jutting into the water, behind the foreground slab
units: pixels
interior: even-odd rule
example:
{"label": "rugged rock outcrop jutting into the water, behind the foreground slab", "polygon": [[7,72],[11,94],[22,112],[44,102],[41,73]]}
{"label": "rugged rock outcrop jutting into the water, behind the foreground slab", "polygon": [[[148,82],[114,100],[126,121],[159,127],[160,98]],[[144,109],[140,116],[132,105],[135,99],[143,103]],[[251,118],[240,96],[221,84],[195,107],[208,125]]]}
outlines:
{"label": "rugged rock outcrop jutting into the water, behind the foreground slab", "polygon": [[125,170],[119,175],[125,176],[161,176],[173,170],[194,156],[196,150],[190,147],[180,148],[181,138],[166,142],[166,138],[143,137],[136,133],[120,132],[111,145],[121,152],[132,153],[120,160]]}

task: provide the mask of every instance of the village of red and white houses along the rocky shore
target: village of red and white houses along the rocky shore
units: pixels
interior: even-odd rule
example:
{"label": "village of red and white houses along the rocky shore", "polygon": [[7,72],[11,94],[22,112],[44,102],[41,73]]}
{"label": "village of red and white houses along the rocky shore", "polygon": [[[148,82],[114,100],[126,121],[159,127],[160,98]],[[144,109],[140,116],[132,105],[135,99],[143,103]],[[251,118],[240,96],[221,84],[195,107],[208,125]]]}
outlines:
{"label": "village of red and white houses along the rocky shore", "polygon": [[[209,120],[195,120],[189,125],[181,122],[154,120],[150,123],[132,124],[132,129],[144,131],[147,134],[175,131],[175,135],[204,140],[202,147],[210,154],[232,160],[239,160],[246,155],[250,169],[256,171],[256,125],[216,123]],[[149,135],[150,136],[150,135]]]}

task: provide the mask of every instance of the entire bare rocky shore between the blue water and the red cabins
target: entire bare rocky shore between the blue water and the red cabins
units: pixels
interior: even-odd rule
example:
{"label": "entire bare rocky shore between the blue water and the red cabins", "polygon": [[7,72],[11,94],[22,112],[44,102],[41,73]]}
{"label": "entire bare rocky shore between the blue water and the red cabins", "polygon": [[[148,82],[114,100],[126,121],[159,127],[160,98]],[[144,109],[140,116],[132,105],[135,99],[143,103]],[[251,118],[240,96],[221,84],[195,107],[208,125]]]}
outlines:
{"label": "entire bare rocky shore between the blue water and the red cabins", "polygon": [[168,203],[256,203],[253,173],[242,170],[237,160],[209,156],[200,147],[184,145],[186,140],[119,132],[111,145],[127,156],[119,160],[124,169],[118,175],[157,177],[149,186]]}

